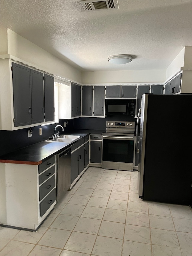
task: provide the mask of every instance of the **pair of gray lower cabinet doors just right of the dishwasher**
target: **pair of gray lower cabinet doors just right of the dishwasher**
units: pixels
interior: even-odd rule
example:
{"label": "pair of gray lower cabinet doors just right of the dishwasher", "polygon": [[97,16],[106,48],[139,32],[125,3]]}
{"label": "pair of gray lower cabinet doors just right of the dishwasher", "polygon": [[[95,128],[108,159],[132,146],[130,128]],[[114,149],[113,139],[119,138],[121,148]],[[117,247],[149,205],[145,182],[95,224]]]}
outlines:
{"label": "pair of gray lower cabinet doors just right of the dishwasher", "polygon": [[84,170],[85,167],[85,152],[84,145],[71,153],[71,183]]}

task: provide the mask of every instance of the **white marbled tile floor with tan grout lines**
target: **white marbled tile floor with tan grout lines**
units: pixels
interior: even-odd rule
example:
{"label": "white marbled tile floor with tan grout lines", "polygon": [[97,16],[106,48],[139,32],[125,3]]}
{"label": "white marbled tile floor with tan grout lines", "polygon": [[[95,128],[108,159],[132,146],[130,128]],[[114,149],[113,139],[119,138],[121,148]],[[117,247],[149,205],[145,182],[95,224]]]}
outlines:
{"label": "white marbled tile floor with tan grout lines", "polygon": [[137,171],[89,167],[38,232],[0,227],[5,255],[192,256],[192,211],[141,200]]}

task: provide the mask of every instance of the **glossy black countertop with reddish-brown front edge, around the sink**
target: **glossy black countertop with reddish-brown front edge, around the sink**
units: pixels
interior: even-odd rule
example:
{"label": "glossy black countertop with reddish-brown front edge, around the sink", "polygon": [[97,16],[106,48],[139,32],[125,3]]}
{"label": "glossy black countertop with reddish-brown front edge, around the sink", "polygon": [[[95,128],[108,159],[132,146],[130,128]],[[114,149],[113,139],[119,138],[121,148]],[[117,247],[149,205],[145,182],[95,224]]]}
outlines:
{"label": "glossy black countertop with reddish-brown front edge, around the sink", "polygon": [[71,133],[60,135],[81,135],[79,139],[71,142],[49,142],[41,141],[31,146],[16,150],[6,155],[0,156],[0,163],[12,163],[12,164],[41,164],[42,161],[52,155],[69,148],[75,144],[78,140],[83,139],[89,134],[102,134],[103,130],[73,130]]}

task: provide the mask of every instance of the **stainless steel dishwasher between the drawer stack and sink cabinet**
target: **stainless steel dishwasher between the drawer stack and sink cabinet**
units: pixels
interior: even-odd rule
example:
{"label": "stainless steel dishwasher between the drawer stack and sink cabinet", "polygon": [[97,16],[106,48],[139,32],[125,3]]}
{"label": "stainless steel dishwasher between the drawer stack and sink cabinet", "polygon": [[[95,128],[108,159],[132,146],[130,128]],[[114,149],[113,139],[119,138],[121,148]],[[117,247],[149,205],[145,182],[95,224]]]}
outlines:
{"label": "stainless steel dishwasher between the drawer stack and sink cabinet", "polygon": [[56,155],[57,202],[59,202],[71,184],[71,149]]}

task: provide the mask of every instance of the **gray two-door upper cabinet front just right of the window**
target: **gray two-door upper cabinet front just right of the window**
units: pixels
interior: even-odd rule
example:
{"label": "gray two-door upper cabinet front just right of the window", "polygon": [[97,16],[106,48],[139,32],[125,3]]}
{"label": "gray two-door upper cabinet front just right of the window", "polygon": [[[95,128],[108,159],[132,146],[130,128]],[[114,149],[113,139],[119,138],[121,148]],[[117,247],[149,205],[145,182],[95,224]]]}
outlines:
{"label": "gray two-door upper cabinet front just right of the window", "polygon": [[71,83],[71,117],[81,115],[81,86]]}

